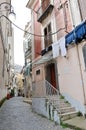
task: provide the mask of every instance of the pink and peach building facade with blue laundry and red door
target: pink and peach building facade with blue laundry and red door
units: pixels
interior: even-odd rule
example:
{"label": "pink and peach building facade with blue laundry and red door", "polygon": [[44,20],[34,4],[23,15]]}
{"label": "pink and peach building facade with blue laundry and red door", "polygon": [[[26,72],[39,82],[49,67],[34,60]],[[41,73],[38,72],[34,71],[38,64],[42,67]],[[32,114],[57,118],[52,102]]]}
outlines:
{"label": "pink and peach building facade with blue laundry and red door", "polygon": [[[46,96],[45,86],[48,81],[83,115],[86,114],[85,6],[85,1],[81,3],[78,0],[34,2],[30,0],[27,4],[32,10],[34,34],[32,36],[34,100],[37,102],[39,97]],[[63,39],[65,46],[61,46],[61,42],[64,44],[64,41],[61,41]],[[55,43],[58,44],[57,50],[53,48]],[[37,110],[36,105],[34,109]]]}

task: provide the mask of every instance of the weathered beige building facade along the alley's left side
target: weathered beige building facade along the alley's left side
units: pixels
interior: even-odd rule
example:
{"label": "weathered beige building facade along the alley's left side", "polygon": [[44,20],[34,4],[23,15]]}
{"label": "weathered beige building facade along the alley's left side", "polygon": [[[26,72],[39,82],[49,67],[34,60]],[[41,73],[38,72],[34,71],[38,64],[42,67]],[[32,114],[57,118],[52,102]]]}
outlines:
{"label": "weathered beige building facade along the alley's left side", "polygon": [[11,85],[11,66],[14,64],[13,50],[11,50],[13,30],[8,19],[11,10],[10,5],[10,0],[0,1],[0,100],[6,96],[7,88]]}

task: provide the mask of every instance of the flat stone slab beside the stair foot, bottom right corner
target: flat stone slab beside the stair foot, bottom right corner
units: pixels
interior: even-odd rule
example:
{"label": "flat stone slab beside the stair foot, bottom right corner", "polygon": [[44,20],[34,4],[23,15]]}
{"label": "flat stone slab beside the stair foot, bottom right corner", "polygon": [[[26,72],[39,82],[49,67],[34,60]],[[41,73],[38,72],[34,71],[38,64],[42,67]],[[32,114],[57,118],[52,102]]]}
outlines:
{"label": "flat stone slab beside the stair foot, bottom right corner", "polygon": [[76,130],[86,130],[86,119],[82,116],[63,121],[63,124],[67,124],[69,127]]}

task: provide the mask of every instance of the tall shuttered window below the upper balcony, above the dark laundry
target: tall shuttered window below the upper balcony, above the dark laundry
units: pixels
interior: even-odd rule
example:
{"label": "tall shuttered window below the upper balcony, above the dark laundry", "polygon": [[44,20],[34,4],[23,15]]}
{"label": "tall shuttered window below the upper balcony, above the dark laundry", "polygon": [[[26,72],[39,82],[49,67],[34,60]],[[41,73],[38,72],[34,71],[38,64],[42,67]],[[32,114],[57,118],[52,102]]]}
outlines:
{"label": "tall shuttered window below the upper balcony, above the dark laundry", "polygon": [[45,48],[52,44],[52,35],[51,34],[51,23],[44,29],[44,43]]}

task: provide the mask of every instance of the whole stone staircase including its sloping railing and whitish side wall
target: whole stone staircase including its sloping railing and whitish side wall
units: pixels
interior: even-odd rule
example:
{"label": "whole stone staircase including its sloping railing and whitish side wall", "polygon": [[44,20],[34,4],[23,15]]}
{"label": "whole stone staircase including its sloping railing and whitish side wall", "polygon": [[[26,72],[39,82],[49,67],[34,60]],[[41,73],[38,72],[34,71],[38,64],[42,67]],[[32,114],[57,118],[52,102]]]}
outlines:
{"label": "whole stone staircase including its sloping railing and whitish side wall", "polygon": [[[47,108],[50,114],[50,119],[65,121],[76,117],[78,111],[75,110],[71,104],[59,93],[58,89],[52,86],[45,80],[46,96],[47,96]],[[55,121],[54,120],[54,121]]]}

